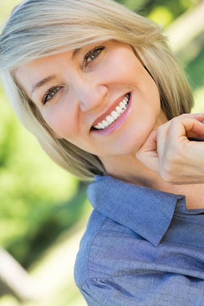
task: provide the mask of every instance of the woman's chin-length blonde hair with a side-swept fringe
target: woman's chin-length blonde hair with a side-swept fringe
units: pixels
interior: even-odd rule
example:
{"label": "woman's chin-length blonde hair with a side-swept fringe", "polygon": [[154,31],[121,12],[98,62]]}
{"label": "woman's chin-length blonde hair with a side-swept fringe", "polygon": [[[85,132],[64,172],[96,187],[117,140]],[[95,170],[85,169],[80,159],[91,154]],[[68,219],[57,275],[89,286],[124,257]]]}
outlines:
{"label": "woman's chin-length blonde hair with a side-swept fringe", "polygon": [[85,180],[106,174],[99,158],[65,139],[56,139],[18,86],[15,69],[38,58],[107,40],[133,46],[159,88],[168,119],[190,112],[192,92],[162,28],[113,0],[26,0],[13,11],[0,36],[0,73],[17,116],[56,163]]}

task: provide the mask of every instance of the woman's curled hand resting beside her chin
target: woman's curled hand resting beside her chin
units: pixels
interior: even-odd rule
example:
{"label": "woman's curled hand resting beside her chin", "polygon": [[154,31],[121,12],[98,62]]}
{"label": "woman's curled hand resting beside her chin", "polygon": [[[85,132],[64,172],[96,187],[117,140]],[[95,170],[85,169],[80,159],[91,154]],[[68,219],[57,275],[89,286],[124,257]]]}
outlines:
{"label": "woman's curled hand resting beside her chin", "polygon": [[152,131],[136,158],[170,184],[204,183],[204,114],[183,114]]}

